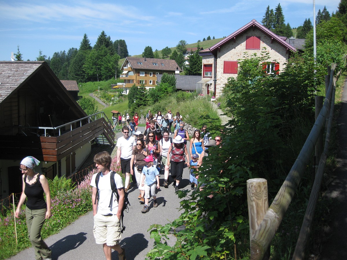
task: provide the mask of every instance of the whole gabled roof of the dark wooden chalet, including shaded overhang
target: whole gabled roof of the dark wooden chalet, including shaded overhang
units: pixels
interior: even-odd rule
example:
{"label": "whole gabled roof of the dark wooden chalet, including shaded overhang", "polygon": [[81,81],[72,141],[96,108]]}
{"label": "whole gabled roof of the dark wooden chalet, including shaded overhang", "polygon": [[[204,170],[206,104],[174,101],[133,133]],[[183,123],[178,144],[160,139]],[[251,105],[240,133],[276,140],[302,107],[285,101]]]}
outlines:
{"label": "whole gabled roof of the dark wooden chalet, including shaded overhang", "polygon": [[37,99],[64,103],[74,115],[87,115],[45,61],[0,61],[0,105],[29,81]]}

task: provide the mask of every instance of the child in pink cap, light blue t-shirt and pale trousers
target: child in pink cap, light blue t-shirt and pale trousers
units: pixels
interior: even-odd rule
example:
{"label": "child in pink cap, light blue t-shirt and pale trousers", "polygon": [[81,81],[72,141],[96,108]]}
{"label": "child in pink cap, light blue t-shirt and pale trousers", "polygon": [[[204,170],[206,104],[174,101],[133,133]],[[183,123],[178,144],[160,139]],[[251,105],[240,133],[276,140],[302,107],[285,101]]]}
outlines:
{"label": "child in pink cap, light blue t-shirt and pale trousers", "polygon": [[[158,203],[156,202],[156,193],[155,188],[159,189],[159,172],[156,167],[153,167],[153,156],[147,156],[143,159],[146,162],[146,166],[143,167],[142,170],[142,180],[141,186],[145,187],[145,206],[141,210],[142,213],[146,213],[149,211],[148,201],[150,198],[150,192],[153,197],[153,208],[158,207]],[[156,185],[155,185],[156,181]]]}

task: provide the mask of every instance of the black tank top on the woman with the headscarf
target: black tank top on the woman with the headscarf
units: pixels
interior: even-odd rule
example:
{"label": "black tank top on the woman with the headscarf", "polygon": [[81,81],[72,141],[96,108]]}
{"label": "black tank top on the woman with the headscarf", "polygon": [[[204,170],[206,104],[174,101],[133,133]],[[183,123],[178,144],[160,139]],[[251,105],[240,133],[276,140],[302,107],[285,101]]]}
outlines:
{"label": "black tank top on the woman with the headscarf", "polygon": [[37,175],[37,179],[33,184],[28,184],[26,182],[26,177],[24,177],[24,182],[25,182],[25,189],[24,193],[26,197],[28,198],[26,202],[26,206],[28,209],[44,209],[47,207],[46,201],[44,200],[43,197],[43,188],[42,184],[40,182],[40,176],[41,174]]}

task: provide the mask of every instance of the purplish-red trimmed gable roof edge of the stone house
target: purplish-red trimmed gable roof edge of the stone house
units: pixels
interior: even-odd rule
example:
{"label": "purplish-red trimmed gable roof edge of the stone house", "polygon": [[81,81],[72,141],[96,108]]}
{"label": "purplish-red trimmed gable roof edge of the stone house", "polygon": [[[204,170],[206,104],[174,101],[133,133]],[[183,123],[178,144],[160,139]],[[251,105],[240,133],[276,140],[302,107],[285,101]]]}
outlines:
{"label": "purplish-red trimmed gable roof edge of the stone house", "polygon": [[217,51],[218,51],[218,49],[220,47],[222,47],[227,42],[229,42],[231,40],[234,40],[234,38],[236,38],[237,36],[239,36],[240,34],[244,33],[245,31],[247,31],[250,28],[257,28],[257,29],[259,29],[261,32],[263,32],[264,34],[269,35],[269,37],[271,37],[274,41],[277,41],[279,44],[281,44],[286,49],[289,49],[291,51],[296,52],[296,49],[293,46],[291,46],[289,43],[285,42],[285,39],[284,39],[285,37],[282,37],[282,36],[280,37],[280,36],[274,34],[268,28],[264,27],[263,25],[261,25],[260,23],[258,23],[256,20],[253,19],[251,22],[249,22],[245,26],[241,27],[236,32],[230,34],[229,36],[225,37],[220,42],[218,42],[218,43],[214,44],[212,47],[210,47],[209,49],[210,49],[211,53],[214,56],[217,56]]}

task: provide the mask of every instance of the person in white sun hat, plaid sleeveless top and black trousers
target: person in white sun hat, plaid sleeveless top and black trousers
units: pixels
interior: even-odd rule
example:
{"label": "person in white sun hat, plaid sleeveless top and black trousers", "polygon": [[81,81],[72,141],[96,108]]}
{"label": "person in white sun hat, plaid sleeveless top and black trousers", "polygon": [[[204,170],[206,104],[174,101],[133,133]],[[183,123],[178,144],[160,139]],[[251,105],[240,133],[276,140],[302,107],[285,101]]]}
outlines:
{"label": "person in white sun hat, plaid sleeveless top and black trousers", "polygon": [[[170,158],[169,158],[170,157]],[[175,192],[178,191],[179,182],[182,180],[183,167],[187,158],[187,166],[189,167],[189,157],[187,147],[181,136],[176,136],[168,150],[168,163],[171,164],[171,177],[174,179]]]}

